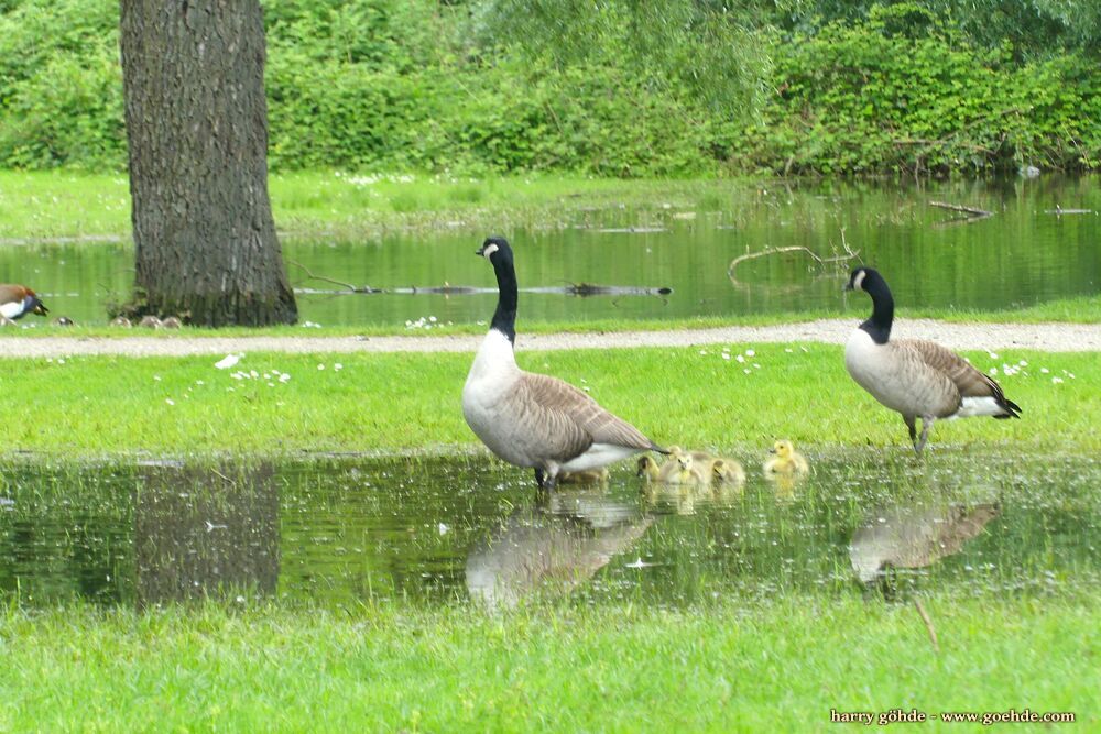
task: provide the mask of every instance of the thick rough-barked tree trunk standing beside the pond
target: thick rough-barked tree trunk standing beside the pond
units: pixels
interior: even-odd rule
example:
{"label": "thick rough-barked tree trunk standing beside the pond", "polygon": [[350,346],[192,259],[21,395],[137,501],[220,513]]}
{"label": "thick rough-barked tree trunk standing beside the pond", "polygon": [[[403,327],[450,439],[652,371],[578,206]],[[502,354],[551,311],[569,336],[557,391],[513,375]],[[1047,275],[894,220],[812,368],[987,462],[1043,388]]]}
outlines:
{"label": "thick rough-barked tree trunk standing beside the pond", "polygon": [[138,310],[293,324],[268,198],[258,0],[121,0]]}

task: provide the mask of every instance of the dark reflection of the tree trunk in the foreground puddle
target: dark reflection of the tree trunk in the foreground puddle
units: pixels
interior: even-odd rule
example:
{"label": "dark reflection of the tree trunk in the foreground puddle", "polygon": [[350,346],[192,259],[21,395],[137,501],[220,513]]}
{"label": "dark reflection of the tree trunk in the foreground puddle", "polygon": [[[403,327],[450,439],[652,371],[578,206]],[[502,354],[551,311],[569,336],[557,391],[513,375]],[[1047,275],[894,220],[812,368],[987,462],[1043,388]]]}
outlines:
{"label": "dark reflection of the tree trunk in the foreground puddle", "polygon": [[279,491],[270,463],[145,465],[133,491],[140,605],[271,595],[279,584]]}

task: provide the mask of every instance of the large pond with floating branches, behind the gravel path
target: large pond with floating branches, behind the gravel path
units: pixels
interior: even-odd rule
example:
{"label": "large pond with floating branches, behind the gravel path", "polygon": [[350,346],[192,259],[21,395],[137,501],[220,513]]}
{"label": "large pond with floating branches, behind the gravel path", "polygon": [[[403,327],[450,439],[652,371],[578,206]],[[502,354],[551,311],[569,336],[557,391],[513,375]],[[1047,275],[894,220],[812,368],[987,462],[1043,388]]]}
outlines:
{"label": "large pond with floating branches, behind the gravel path", "polygon": [[[592,208],[569,199],[560,228],[503,232],[516,248],[521,287],[557,291],[523,294],[521,319],[584,322],[842,308],[843,273],[854,261],[818,265],[803,252],[787,252],[743,261],[733,277],[728,274],[740,255],[793,247],[830,258],[843,255],[848,245],[887,276],[904,307],[1011,308],[1095,294],[1101,284],[1101,179],[1095,177],[824,182],[792,188],[710,183],[696,194],[686,190],[696,189],[631,208]],[[929,206],[931,200],[993,216],[967,223],[958,212]],[[1056,213],[1072,209],[1089,213]],[[492,292],[445,295],[423,288],[492,288],[492,272],[473,256],[490,233],[457,229],[369,241],[285,235],[291,278],[303,289],[301,320],[323,327],[430,325],[429,317],[443,325],[488,320]],[[132,250],[123,243],[0,248],[0,280],[30,284],[55,315],[81,324],[107,321],[105,303],[127,296],[132,267]],[[341,286],[307,273],[388,293],[316,293]],[[565,295],[571,284],[673,293]]]}

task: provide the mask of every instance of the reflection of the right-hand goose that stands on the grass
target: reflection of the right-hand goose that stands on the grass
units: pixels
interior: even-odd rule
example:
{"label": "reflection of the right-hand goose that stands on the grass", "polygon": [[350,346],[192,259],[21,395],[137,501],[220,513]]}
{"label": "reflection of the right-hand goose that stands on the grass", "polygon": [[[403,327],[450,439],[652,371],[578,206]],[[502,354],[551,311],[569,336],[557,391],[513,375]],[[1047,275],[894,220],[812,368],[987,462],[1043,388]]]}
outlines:
{"label": "reflection of the right-hand goose that stands on the grass", "polygon": [[852,570],[866,584],[883,578],[887,569],[931,566],[945,556],[958,554],[998,514],[996,504],[874,512],[852,534]]}

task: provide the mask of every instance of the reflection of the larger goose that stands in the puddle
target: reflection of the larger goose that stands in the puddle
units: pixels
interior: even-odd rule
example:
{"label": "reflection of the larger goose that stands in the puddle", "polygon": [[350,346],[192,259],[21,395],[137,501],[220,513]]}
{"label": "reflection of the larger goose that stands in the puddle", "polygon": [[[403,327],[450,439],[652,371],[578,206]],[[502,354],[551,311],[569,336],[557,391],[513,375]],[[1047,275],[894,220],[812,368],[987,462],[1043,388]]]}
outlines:
{"label": "reflection of the larger goose that stands in the puddle", "polygon": [[634,545],[653,522],[592,492],[556,492],[516,512],[467,557],[467,590],[492,609],[536,593],[569,593]]}

